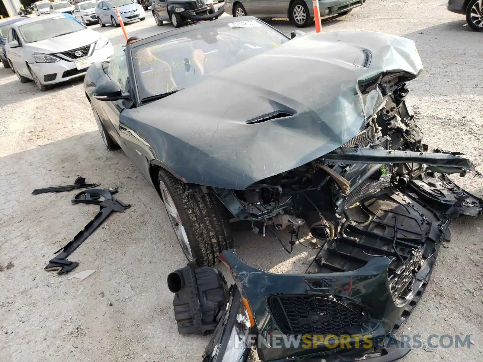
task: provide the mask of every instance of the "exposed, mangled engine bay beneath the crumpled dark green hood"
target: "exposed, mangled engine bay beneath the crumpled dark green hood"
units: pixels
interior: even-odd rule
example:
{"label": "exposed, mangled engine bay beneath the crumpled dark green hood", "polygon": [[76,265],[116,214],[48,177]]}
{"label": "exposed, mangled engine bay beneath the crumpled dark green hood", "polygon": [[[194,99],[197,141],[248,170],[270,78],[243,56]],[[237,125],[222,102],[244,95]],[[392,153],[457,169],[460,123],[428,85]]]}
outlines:
{"label": "exposed, mangled engine bay beneath the crumpled dark green hood", "polygon": [[[332,153],[245,190],[214,188],[233,215],[251,221],[256,233],[274,235],[287,252],[307,225],[320,241],[309,273],[351,272],[380,256],[392,260],[389,289],[404,306],[395,329],[424,292],[441,241],[451,238],[449,220],[483,209],[446,176],[477,173],[474,166],[461,153],[427,152],[407,94],[405,84],[386,94],[377,117]],[[283,229],[288,242],[278,234]]]}

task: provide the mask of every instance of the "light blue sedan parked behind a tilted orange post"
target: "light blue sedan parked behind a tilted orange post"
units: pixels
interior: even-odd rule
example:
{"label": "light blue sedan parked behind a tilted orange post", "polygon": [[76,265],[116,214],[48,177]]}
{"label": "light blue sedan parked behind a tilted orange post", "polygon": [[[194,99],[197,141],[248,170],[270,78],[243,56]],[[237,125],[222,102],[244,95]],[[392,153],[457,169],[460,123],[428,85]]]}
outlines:
{"label": "light blue sedan parked behind a tilted orange post", "polygon": [[105,27],[106,24],[112,24],[114,27],[119,26],[114,8],[117,8],[119,14],[121,14],[123,23],[133,20],[142,21],[146,18],[144,9],[134,0],[100,1],[96,8],[96,15],[101,27]]}

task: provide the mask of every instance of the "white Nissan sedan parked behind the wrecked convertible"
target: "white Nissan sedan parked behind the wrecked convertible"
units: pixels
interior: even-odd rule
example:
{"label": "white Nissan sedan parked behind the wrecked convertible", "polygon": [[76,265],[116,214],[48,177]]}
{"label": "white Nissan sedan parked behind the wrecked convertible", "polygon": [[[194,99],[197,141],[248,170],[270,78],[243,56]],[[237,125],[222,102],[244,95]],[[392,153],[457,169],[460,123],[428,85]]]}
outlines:
{"label": "white Nissan sedan parked behind the wrecked convertible", "polygon": [[93,62],[113,55],[113,45],[68,14],[49,14],[12,25],[5,53],[22,83],[33,80],[41,90],[84,76]]}

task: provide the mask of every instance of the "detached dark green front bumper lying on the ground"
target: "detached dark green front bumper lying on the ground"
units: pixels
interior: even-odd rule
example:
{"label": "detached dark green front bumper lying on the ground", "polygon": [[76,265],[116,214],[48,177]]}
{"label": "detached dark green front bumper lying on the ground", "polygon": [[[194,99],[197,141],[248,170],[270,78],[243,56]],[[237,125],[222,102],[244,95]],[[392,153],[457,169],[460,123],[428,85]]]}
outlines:
{"label": "detached dark green front bumper lying on the ground", "polygon": [[[256,269],[244,264],[234,250],[224,251],[220,260],[253,312],[262,361],[312,362],[313,355],[318,358],[313,361],[344,355],[353,361],[365,357],[388,362],[411,350],[400,342],[388,343],[405,305],[395,303],[388,287],[387,257],[376,257],[353,272],[301,275]],[[412,285],[414,295],[433,265],[434,259],[428,258]],[[411,299],[408,296],[408,302]],[[368,353],[381,356],[369,359]]]}

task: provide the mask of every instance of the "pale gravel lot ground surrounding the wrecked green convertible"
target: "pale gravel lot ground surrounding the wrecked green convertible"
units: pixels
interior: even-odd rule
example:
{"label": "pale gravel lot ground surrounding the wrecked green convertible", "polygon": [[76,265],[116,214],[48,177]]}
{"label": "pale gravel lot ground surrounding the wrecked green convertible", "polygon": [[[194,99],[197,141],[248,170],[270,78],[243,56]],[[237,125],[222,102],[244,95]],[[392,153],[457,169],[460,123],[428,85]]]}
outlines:
{"label": "pale gravel lot ground surrounding the wrecked green convertible", "polygon": [[[295,29],[286,21],[271,24],[285,33]],[[91,28],[123,42],[120,28]],[[172,26],[156,27],[148,16],[127,29],[146,36]],[[407,101],[426,143],[481,164],[483,33],[449,13],[443,0],[368,0],[323,25],[353,29],[416,42],[425,70],[409,84]],[[223,101],[219,96],[213,99]],[[180,336],[173,318],[165,280],[186,261],[164,207],[122,152],[105,150],[82,81],[40,92],[0,66],[0,144],[0,361],[200,361],[209,337]],[[96,270],[83,281],[43,267],[97,207],[72,205],[74,193],[31,195],[77,175],[118,186],[117,198],[132,205],[71,256],[80,262],[76,272]],[[483,196],[481,178],[455,180]],[[423,301],[402,331],[423,341],[429,334],[471,334],[471,348],[418,348],[404,361],[483,361],[482,227],[482,219],[453,223],[453,240],[441,249]],[[300,272],[313,255],[296,246],[288,258],[277,241],[249,233],[237,234],[235,246],[242,260],[277,273]]]}

